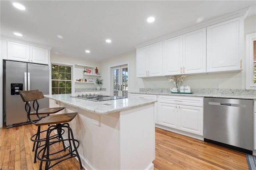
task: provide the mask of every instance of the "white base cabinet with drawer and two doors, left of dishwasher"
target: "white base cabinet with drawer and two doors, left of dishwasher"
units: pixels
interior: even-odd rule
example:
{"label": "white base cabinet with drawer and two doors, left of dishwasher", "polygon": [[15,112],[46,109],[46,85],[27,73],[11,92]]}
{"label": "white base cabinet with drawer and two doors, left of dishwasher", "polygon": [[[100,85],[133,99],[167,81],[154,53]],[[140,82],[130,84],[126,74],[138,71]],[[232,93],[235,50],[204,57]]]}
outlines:
{"label": "white base cabinet with drawer and two doors, left of dishwasher", "polygon": [[158,96],[157,124],[203,136],[203,98]]}

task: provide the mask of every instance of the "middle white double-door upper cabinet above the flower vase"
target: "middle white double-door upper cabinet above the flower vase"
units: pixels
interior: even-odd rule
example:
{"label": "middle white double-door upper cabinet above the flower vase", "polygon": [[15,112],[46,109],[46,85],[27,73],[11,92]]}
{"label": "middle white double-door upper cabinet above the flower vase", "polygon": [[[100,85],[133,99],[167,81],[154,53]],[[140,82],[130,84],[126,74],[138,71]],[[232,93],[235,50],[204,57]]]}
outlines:
{"label": "middle white double-door upper cabinet above the flower vase", "polygon": [[163,74],[206,72],[206,28],[163,41]]}

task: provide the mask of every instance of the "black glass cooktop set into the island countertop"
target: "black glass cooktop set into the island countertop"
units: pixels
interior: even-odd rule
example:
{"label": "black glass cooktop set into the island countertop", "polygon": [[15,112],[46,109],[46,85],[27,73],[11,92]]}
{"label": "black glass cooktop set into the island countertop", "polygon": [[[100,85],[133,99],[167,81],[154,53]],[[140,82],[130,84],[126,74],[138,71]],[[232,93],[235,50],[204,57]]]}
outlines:
{"label": "black glass cooktop set into the island countertop", "polygon": [[90,100],[94,102],[100,102],[100,101],[106,101],[106,100],[116,100],[116,99],[124,99],[126,97],[121,96],[106,96],[106,95],[77,95],[77,96],[71,96],[72,98],[78,98],[78,99],[84,99],[84,100]]}

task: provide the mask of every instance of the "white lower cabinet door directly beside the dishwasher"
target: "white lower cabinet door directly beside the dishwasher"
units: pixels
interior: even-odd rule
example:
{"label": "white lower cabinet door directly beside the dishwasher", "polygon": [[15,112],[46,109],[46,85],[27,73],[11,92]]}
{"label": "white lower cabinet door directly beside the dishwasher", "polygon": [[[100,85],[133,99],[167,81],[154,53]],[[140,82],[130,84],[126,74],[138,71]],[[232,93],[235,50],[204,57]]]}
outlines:
{"label": "white lower cabinet door directly beside the dishwasher", "polygon": [[203,107],[179,105],[180,130],[203,135]]}

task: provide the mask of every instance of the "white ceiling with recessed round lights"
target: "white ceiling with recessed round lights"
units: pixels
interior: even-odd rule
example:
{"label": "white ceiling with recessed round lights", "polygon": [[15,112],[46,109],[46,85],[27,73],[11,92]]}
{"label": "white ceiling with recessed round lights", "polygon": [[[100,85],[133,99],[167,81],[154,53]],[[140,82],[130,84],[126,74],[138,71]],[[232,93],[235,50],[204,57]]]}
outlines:
{"label": "white ceiling with recessed round lights", "polygon": [[[248,16],[256,13],[255,0],[18,1],[24,11],[13,2],[0,1],[1,35],[51,46],[51,53],[96,61],[134,51],[140,43],[195,25],[200,17],[206,21],[248,6]],[[154,23],[146,21],[149,16],[155,17]],[[106,43],[107,38],[112,43]]]}

